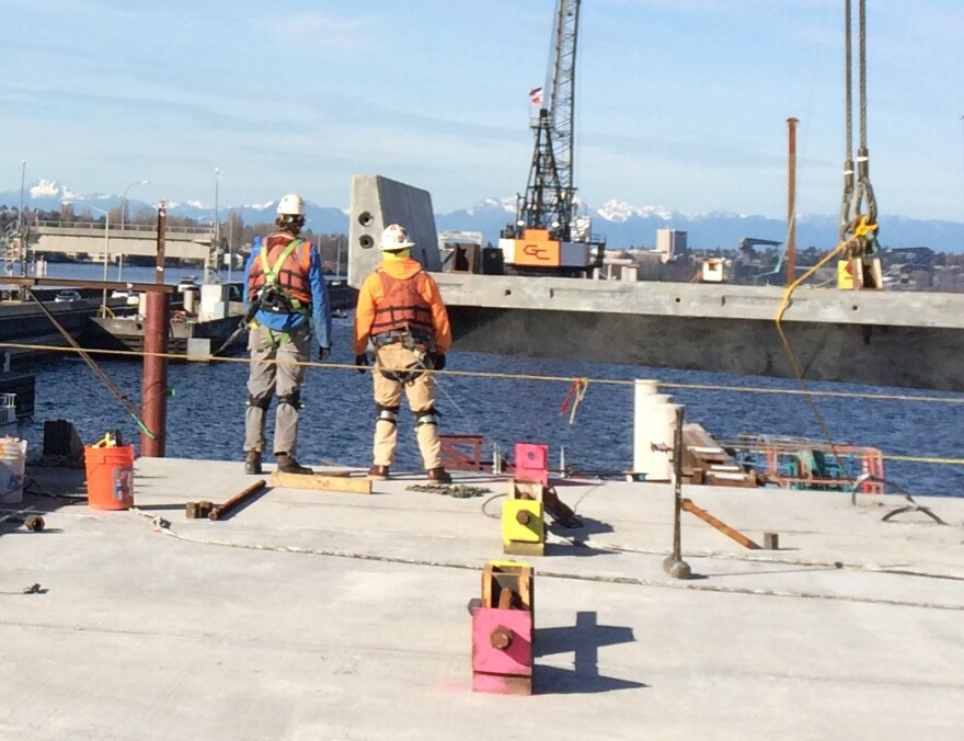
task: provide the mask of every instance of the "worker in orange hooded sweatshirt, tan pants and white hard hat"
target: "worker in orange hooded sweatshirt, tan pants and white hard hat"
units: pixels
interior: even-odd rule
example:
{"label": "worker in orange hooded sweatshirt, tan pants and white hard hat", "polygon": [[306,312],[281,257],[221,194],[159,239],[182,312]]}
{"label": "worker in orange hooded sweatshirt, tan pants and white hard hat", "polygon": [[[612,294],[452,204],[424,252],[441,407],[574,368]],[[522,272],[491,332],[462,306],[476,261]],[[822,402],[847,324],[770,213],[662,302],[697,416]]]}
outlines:
{"label": "worker in orange hooded sweatshirt, tan pants and white hard hat", "polygon": [[448,312],[431,275],[411,256],[414,242],[404,227],[389,226],[381,236],[382,260],[362,284],[355,310],[352,350],[359,373],[367,373],[369,340],[375,347],[375,445],[368,478],[385,480],[394,460],[402,389],[415,417],[415,436],[428,480],[449,483],[441,465],[435,411],[435,377],[451,346]]}

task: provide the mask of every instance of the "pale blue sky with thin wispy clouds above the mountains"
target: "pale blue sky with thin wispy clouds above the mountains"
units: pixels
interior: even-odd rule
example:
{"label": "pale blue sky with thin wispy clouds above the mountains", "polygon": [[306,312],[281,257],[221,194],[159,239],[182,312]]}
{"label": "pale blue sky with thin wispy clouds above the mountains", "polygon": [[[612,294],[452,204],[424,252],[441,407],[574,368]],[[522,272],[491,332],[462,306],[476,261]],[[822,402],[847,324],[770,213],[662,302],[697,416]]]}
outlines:
{"label": "pale blue sky with thin wispy clouds above the mountains", "polygon": [[[857,26],[854,5],[854,31]],[[554,0],[0,0],[0,190],[347,207],[353,173],[438,212],[523,190]],[[964,2],[868,2],[882,214],[964,220]],[[856,45],[854,45],[856,50]],[[842,0],[583,0],[575,184],[699,214],[836,214]],[[857,76],[854,72],[854,99]],[[854,112],[854,116],[856,116]],[[854,147],[858,129],[854,117]]]}

